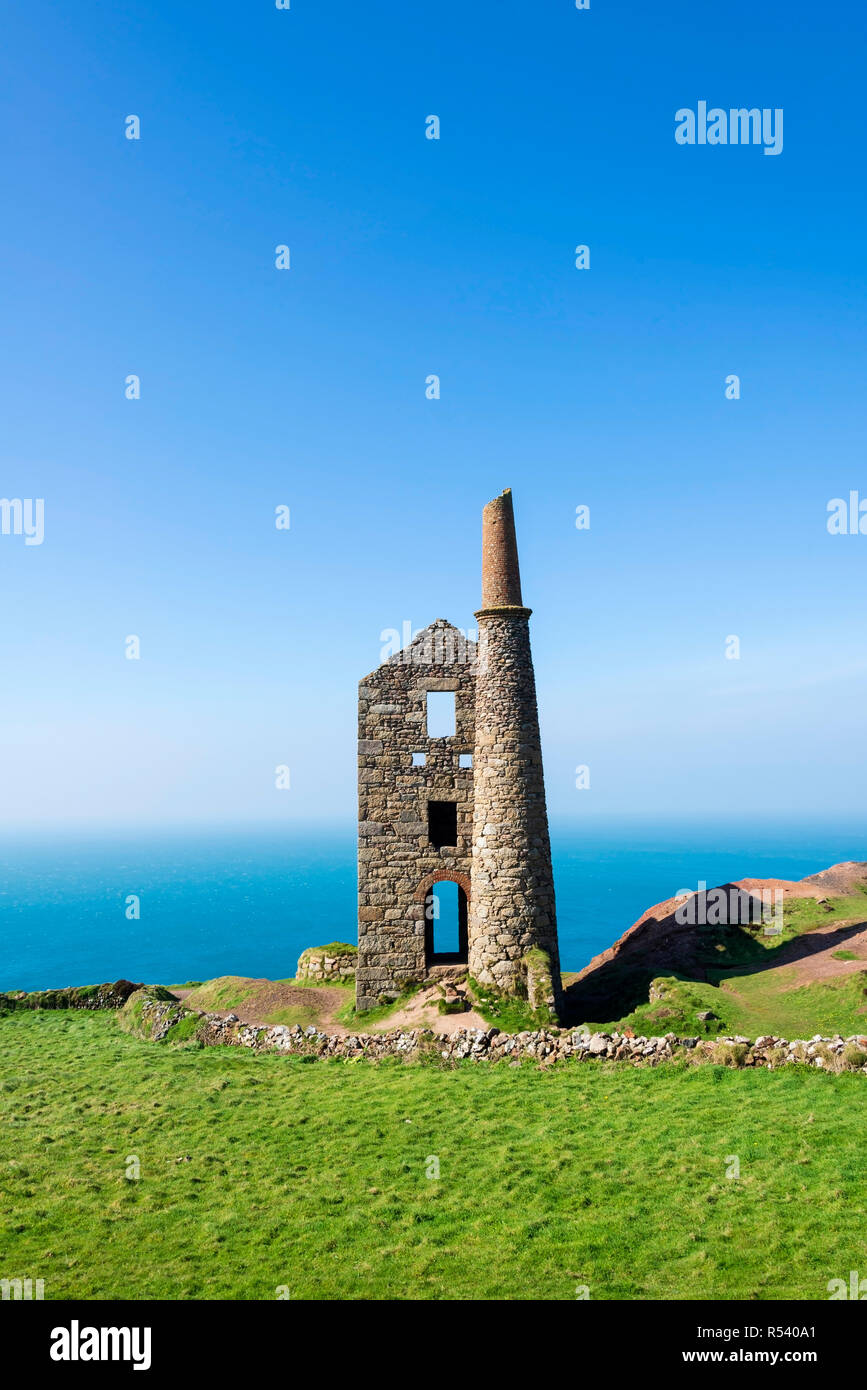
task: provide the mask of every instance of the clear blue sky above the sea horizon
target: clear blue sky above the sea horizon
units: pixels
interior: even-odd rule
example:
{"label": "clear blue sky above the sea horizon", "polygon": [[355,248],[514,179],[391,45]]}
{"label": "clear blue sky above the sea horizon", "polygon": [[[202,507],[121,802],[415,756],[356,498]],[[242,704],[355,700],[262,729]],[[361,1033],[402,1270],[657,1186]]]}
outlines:
{"label": "clear blue sky above the sea horizon", "polygon": [[[0,535],[0,820],[352,819],[356,684],[472,626],[503,486],[556,816],[863,810],[861,6],[3,26],[0,493],[44,541]],[[678,145],[702,100],[782,153]]]}

